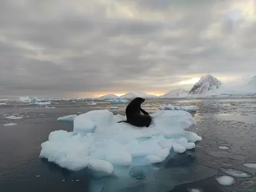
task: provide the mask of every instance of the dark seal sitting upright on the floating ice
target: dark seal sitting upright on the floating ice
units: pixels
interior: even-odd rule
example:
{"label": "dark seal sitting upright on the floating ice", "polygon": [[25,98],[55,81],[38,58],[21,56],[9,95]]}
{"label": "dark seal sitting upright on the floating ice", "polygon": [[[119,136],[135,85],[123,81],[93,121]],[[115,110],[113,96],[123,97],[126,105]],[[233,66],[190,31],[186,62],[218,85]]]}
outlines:
{"label": "dark seal sitting upright on the floating ice", "polygon": [[[141,108],[141,103],[145,101],[144,98],[134,98],[126,107],[126,121],[119,121],[117,123],[126,122],[137,127],[149,127],[152,121],[151,116]],[[143,114],[141,114],[141,112]]]}

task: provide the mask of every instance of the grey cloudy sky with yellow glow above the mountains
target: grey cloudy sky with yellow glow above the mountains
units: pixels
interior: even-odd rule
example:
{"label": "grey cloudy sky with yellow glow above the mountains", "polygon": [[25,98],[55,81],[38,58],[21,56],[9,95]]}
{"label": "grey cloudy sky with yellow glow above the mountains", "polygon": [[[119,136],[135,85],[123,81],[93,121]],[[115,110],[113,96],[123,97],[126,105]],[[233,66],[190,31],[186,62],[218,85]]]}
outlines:
{"label": "grey cloudy sky with yellow glow above the mountains", "polygon": [[189,90],[256,75],[254,0],[2,0],[0,95]]}

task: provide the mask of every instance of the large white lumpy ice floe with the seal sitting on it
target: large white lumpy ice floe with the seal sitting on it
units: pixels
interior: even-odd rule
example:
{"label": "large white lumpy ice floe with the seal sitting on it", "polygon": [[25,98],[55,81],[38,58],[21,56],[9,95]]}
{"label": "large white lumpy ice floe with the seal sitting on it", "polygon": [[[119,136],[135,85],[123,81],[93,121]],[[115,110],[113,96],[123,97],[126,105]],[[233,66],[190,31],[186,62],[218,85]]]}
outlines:
{"label": "large white lumpy ice floe with the seal sitting on it", "polygon": [[157,111],[151,116],[150,127],[139,128],[117,123],[126,118],[108,110],[83,113],[75,118],[73,132],[51,132],[39,157],[69,170],[88,168],[110,175],[115,165],[159,163],[171,150],[183,153],[202,140],[187,131],[196,121],[186,111]]}

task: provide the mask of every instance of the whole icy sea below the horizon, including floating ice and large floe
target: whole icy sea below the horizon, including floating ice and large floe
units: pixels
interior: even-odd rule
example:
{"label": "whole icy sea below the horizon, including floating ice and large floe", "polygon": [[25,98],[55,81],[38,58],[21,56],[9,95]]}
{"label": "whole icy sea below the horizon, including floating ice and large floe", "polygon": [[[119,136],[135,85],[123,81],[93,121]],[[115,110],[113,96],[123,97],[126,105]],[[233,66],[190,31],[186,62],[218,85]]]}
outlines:
{"label": "whole icy sea below the horizon, including floating ice and large floe", "polygon": [[[0,106],[0,191],[254,191],[256,101],[8,101]],[[89,105],[88,105],[89,104]]]}

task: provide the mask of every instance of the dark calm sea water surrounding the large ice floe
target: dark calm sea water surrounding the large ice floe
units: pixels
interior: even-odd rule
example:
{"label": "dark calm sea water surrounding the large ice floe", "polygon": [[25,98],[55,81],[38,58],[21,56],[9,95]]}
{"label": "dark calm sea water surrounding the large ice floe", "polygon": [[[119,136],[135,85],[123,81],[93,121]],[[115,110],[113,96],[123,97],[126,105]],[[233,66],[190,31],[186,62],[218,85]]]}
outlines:
{"label": "dark calm sea water surrounding the large ice floe", "polygon": [[[254,99],[226,100],[147,100],[143,108],[155,112],[159,105],[194,105],[197,129],[193,132],[203,141],[196,149],[183,154],[171,153],[165,162],[145,167],[121,170],[125,177],[97,179],[85,170],[69,172],[47,160],[39,159],[40,144],[48,140],[49,133],[63,129],[73,130],[73,124],[57,122],[57,118],[78,112],[87,112],[110,106],[115,114],[124,114],[126,105],[86,102],[61,102],[44,108],[8,102],[0,106],[0,191],[256,191],[256,169],[242,164],[256,163],[256,101]],[[24,116],[8,120],[4,114]],[[29,117],[27,117],[29,116]],[[6,123],[16,126],[3,126]],[[228,150],[218,149],[228,146]],[[231,186],[216,181],[224,175],[223,168],[243,170],[250,178],[235,178]],[[38,176],[40,175],[40,176]],[[37,177],[38,176],[38,177]],[[63,181],[65,180],[65,181]]]}

